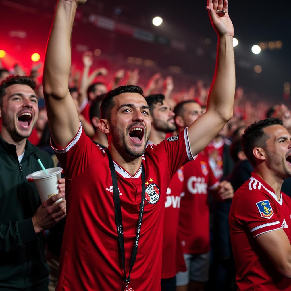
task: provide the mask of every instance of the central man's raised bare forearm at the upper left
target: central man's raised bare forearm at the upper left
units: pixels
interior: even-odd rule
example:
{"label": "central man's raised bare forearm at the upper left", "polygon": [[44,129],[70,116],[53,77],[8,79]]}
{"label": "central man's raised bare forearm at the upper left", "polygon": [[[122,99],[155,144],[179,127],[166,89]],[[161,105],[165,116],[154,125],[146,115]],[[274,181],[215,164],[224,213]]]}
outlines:
{"label": "central man's raised bare forearm at the upper left", "polygon": [[77,6],[59,1],[47,44],[43,87],[45,95],[65,97],[71,67],[71,34]]}

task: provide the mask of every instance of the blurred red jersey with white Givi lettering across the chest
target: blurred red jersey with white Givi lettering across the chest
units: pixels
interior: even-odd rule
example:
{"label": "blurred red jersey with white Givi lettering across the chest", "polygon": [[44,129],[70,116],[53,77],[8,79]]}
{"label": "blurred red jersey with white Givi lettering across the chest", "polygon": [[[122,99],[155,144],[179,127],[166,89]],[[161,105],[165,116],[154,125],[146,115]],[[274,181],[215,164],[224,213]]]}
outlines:
{"label": "blurred red jersey with white Givi lettering across the chest", "polygon": [[179,237],[184,253],[207,253],[210,251],[210,226],[208,190],[219,182],[203,153],[184,165],[184,192],[179,217]]}

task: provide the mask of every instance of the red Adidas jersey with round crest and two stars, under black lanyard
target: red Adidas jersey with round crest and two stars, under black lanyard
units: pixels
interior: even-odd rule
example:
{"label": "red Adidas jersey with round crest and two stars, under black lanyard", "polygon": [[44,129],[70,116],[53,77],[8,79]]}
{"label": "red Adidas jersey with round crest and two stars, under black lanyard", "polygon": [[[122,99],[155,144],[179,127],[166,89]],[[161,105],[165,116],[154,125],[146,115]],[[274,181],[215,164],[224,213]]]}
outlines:
{"label": "red Adidas jersey with round crest and two stars, under black lanyard", "polygon": [[[187,134],[185,129],[158,145],[148,145],[142,157],[146,195],[139,246],[131,272],[130,287],[134,290],[160,290],[166,190],[175,172],[193,159]],[[55,152],[64,169],[67,203],[56,290],[122,290],[124,274],[107,154],[81,127],[65,149],[55,149]],[[132,177],[118,164],[114,166],[128,274],[141,203],[141,167]]]}

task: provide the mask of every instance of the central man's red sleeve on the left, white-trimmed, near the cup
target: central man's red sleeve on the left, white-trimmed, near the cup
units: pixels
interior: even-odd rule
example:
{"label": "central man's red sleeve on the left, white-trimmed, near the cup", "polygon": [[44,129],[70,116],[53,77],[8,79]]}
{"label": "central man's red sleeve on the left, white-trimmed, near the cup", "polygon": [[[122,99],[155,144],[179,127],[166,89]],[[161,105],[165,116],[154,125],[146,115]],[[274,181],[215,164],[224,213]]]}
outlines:
{"label": "central man's red sleeve on the left, white-trimmed, near the cup", "polygon": [[86,136],[81,123],[79,131],[64,149],[56,148],[52,137],[51,146],[63,168],[65,177],[68,179],[72,179],[84,172],[91,165],[102,159],[103,154],[105,154],[102,148],[98,147]]}

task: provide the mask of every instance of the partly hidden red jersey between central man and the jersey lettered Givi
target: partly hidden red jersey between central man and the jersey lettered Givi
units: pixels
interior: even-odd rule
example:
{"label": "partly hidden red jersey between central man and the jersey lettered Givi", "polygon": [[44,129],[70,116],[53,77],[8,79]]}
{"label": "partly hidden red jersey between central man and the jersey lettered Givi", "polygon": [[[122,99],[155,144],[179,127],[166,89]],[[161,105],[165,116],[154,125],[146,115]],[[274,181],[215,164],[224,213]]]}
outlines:
{"label": "partly hidden red jersey between central man and the jersey lettered Givi", "polygon": [[184,268],[179,268],[179,261],[181,262],[184,260],[183,253],[181,248],[177,249],[179,210],[184,182],[183,167],[184,166],[175,173],[166,192],[162,279],[172,278],[179,271],[184,270]]}

